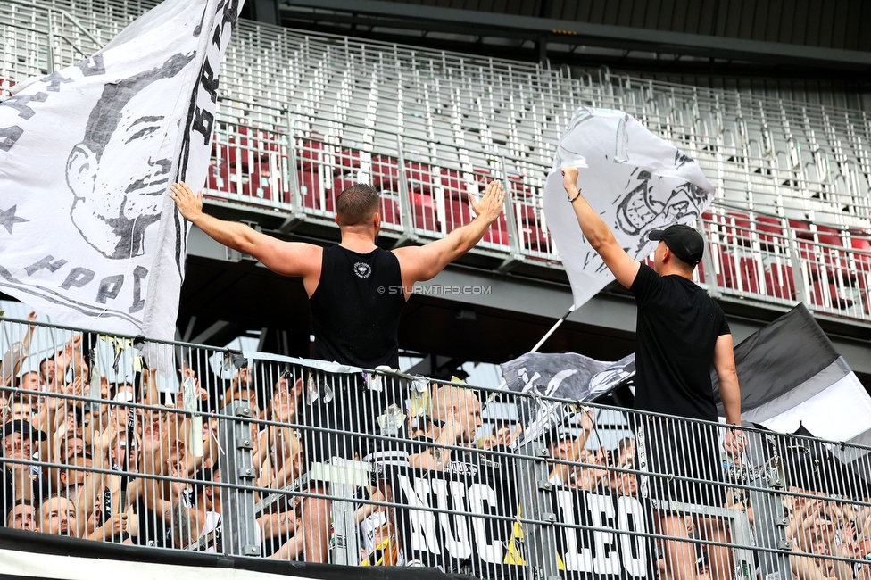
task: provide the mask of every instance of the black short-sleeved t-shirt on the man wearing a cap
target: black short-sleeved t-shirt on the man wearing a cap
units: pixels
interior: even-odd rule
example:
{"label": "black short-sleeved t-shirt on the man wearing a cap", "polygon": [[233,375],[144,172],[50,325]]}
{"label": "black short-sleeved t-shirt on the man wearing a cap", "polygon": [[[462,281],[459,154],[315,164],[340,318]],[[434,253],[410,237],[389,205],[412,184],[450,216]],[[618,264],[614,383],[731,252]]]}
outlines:
{"label": "black short-sleeved t-shirt on the man wearing a cap", "polygon": [[638,305],[635,409],[717,420],[710,366],[726,315],[693,280],[642,264],[629,288]]}

